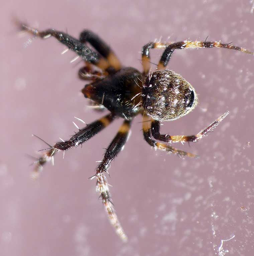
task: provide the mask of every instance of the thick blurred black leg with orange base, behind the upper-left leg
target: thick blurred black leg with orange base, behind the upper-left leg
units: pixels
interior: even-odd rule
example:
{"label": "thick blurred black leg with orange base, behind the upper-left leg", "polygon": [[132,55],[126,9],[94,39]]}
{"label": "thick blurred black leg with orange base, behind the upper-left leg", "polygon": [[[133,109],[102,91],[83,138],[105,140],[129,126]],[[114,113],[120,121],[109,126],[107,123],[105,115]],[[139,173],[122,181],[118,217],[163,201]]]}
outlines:
{"label": "thick blurred black leg with orange base, behind the upper-left leg", "polygon": [[94,32],[84,30],[80,34],[81,43],[90,43],[104,58],[106,58],[112,69],[119,70],[121,63],[112,49]]}

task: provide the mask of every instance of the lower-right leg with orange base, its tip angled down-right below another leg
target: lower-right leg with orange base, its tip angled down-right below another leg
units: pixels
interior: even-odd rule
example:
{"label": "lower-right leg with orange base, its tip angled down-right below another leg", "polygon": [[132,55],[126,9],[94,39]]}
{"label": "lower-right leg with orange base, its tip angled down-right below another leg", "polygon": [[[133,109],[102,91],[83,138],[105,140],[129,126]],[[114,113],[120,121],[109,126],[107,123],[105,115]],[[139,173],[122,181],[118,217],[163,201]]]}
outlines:
{"label": "lower-right leg with orange base, its tip angled down-right below another leg", "polygon": [[197,155],[194,155],[192,153],[188,153],[182,150],[178,150],[175,149],[167,144],[161,143],[161,142],[157,142],[155,140],[153,140],[152,137],[152,133],[151,133],[151,117],[148,116],[147,114],[144,114],[143,116],[143,134],[144,134],[144,139],[145,141],[151,145],[154,148],[158,148],[160,150],[163,151],[168,151],[171,152],[173,154],[176,154],[177,156],[179,156],[180,158],[184,158],[185,156],[188,157],[197,157]]}

